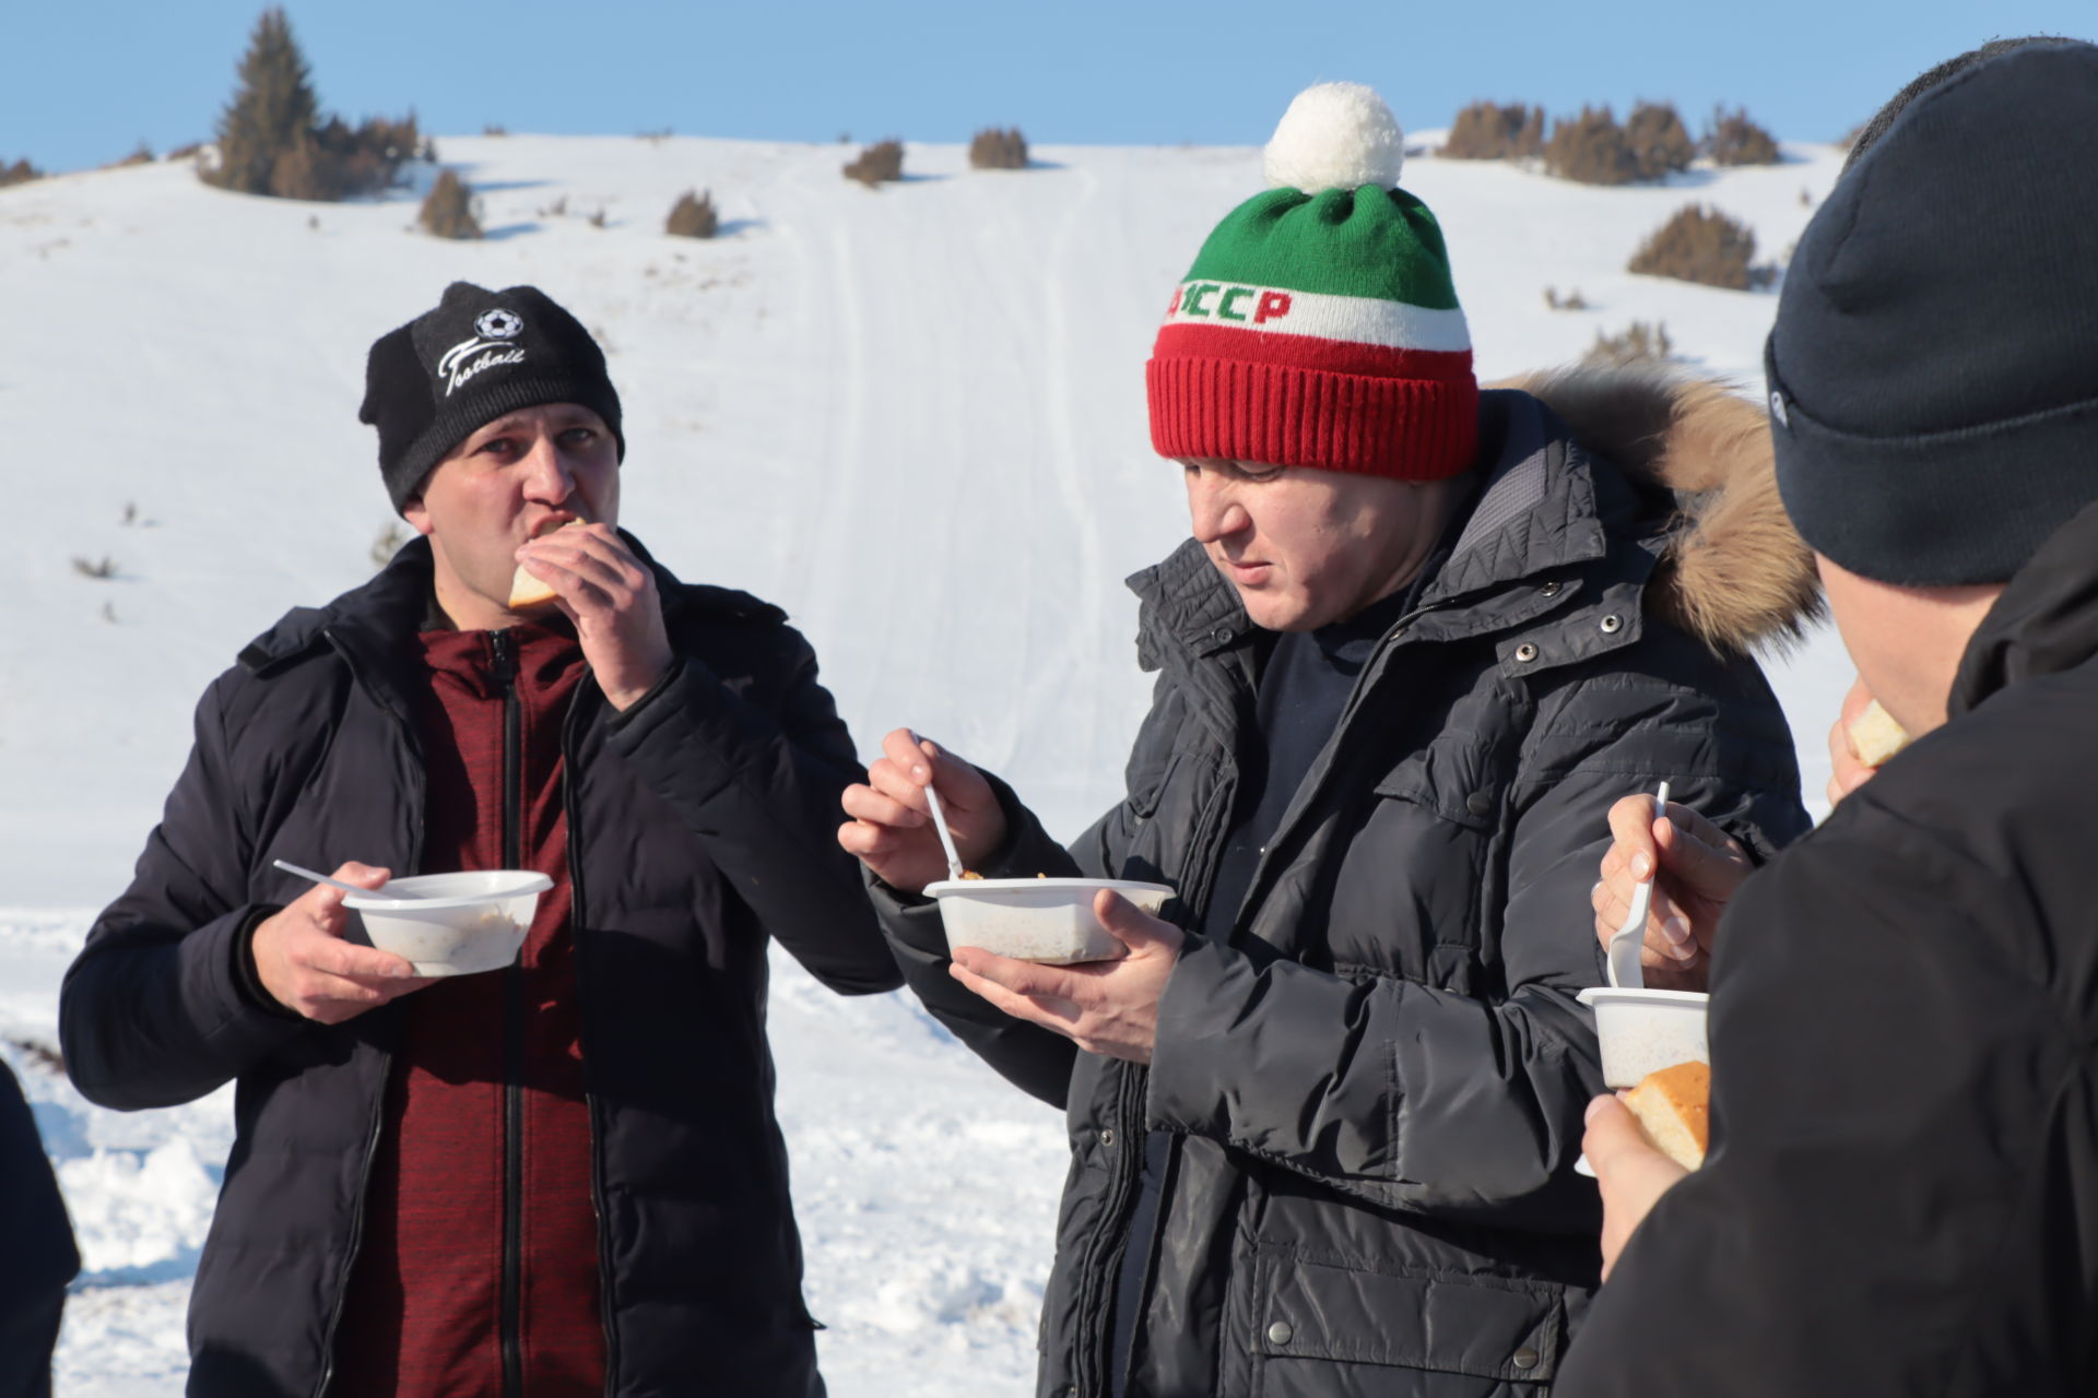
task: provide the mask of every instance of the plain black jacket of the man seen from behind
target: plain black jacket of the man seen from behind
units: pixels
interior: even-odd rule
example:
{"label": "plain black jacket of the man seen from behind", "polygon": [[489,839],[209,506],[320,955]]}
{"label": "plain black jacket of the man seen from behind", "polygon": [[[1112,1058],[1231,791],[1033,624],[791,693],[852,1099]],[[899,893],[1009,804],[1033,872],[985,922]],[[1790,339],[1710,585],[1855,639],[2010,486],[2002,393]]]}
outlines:
{"label": "plain black jacket of the man seen from behind", "polygon": [[2098,1392],[2098,505],[1949,713],[1727,910],[1712,1153],[1567,1394]]}

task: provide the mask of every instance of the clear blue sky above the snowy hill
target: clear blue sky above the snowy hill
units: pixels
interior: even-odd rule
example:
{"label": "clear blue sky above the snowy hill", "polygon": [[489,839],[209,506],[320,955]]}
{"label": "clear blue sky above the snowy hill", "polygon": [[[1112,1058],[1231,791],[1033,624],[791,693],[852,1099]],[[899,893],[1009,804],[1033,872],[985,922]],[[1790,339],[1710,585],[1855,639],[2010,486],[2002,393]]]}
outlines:
{"label": "clear blue sky above the snowy hill", "polygon": [[[1999,34],[2098,38],[2092,0],[1494,0],[896,6],[667,0],[292,0],[325,109],[424,130],[1257,145],[1290,94],[1347,78],[1399,122],[1471,99],[1553,113],[1641,96],[1693,128],[1746,105],[1779,136],[1848,132]],[[0,159],[80,170],[208,138],[260,0],[0,0]]]}

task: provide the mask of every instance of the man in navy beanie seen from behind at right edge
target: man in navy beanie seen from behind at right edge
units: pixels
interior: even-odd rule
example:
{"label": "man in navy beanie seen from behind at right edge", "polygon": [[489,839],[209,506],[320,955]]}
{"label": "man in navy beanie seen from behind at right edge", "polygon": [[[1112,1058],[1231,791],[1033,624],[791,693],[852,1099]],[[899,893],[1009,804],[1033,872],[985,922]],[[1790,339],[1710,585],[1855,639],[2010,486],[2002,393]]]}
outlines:
{"label": "man in navy beanie seen from behind at right edge", "polygon": [[1909,746],[1716,891],[1704,1167],[1590,1107],[1615,1260],[1563,1396],[2098,1392],[2098,46],[1964,54],[1890,111],[1767,371]]}

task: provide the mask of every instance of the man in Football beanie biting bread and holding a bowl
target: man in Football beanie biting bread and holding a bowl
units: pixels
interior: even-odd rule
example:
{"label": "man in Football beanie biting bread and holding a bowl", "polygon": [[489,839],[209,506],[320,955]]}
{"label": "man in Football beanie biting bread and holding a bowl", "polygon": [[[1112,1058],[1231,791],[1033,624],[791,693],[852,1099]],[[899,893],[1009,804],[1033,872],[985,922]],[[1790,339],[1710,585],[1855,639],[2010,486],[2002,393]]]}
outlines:
{"label": "man in Football beanie biting bread and holding a bowl", "polygon": [[[453,283],[365,384],[420,537],[210,687],[61,996],[97,1102],[239,1084],[189,1392],[812,1398],[766,943],[898,983],[816,658],[619,528],[619,394],[541,291]],[[552,889],[516,964],[422,979],[273,859]]]}

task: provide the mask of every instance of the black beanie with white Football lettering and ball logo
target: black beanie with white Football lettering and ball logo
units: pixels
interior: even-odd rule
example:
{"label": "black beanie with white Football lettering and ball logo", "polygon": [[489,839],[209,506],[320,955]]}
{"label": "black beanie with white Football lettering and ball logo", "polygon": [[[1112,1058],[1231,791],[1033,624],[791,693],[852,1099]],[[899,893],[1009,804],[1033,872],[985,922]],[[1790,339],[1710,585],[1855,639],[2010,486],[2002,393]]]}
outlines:
{"label": "black beanie with white Football lettering and ball logo", "polygon": [[445,453],[541,402],[579,402],[602,417],[625,459],[619,392],[590,331],[539,287],[455,281],[436,310],[371,344],[357,421],[380,430],[380,476],[401,509]]}

